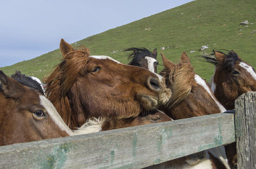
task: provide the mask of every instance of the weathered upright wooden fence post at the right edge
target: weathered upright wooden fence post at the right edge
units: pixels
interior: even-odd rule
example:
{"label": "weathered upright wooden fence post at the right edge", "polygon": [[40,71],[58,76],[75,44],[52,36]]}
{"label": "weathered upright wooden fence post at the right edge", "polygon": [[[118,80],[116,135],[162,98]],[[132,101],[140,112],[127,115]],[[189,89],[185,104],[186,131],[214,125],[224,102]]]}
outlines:
{"label": "weathered upright wooden fence post at the right edge", "polygon": [[235,102],[237,168],[256,168],[256,92],[247,92]]}

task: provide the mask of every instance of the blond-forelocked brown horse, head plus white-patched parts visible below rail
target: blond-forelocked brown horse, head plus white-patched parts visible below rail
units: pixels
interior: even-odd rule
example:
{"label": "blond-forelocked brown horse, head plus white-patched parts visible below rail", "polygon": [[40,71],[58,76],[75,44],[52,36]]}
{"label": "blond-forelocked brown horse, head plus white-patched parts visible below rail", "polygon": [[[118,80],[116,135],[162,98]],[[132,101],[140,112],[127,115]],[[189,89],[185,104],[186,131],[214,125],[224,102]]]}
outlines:
{"label": "blond-forelocked brown horse, head plus white-patched parts visible below rail", "polygon": [[[196,75],[185,52],[182,53],[179,64],[173,64],[162,53],[161,55],[164,70],[160,75],[164,77],[166,87],[170,87],[173,93],[168,103],[160,107],[160,110],[174,120],[226,111],[214,97],[209,84]],[[204,158],[200,158],[198,161],[196,161],[198,156],[196,154],[195,157],[186,156],[186,158],[176,159],[163,165],[167,165],[169,168],[230,168],[223,146],[207,150],[204,154]],[[193,162],[195,163],[193,164]]]}

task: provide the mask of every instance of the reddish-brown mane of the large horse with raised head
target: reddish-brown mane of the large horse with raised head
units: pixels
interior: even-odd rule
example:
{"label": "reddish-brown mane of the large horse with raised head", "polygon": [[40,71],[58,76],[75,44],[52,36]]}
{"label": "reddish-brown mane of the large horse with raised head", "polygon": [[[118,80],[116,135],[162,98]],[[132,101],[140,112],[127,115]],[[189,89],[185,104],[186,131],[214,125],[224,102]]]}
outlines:
{"label": "reddish-brown mane of the large horse with raised head", "polygon": [[68,127],[74,119],[71,119],[72,112],[67,92],[76,82],[77,77],[83,73],[81,70],[86,66],[89,55],[90,51],[84,47],[81,50],[68,52],[51,75],[44,79],[44,83],[47,84],[45,91],[47,98],[56,107]]}

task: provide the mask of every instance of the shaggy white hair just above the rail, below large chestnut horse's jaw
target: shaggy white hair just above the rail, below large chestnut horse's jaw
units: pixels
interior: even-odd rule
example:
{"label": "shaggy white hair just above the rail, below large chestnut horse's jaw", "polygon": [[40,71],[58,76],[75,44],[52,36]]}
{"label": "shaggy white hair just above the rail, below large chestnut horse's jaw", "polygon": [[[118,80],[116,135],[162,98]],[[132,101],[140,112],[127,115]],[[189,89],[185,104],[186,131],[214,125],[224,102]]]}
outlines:
{"label": "shaggy white hair just above the rail, below large chestnut horse's jaw", "polygon": [[84,135],[89,133],[95,133],[101,131],[101,126],[103,122],[105,121],[104,118],[99,117],[99,119],[96,119],[95,117],[88,119],[86,123],[83,124],[80,128],[77,128],[77,130],[73,130],[75,135]]}

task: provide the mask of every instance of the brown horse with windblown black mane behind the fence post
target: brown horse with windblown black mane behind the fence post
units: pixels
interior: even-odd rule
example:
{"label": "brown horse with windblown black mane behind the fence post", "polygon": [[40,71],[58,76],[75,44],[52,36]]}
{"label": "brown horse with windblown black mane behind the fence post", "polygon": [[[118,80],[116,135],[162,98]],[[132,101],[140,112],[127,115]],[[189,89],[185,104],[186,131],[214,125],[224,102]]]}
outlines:
{"label": "brown horse with windblown black mane behind the fence post", "polygon": [[[225,108],[234,109],[235,100],[241,94],[256,91],[255,70],[234,50],[228,54],[214,50],[213,52],[214,54],[202,56],[207,62],[215,65],[215,72],[209,82],[211,90]],[[230,166],[237,165],[236,143],[227,145],[226,151]]]}

